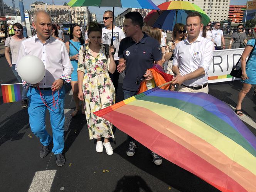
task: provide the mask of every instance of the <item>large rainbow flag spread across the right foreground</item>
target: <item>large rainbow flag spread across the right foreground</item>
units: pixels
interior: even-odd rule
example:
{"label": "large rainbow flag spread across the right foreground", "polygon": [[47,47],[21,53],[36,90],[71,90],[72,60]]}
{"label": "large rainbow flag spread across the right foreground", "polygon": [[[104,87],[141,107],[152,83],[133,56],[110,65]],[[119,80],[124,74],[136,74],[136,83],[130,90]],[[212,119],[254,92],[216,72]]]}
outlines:
{"label": "large rainbow flag spread across the right foreground", "polygon": [[156,87],[94,114],[221,191],[256,191],[256,136],[209,94]]}

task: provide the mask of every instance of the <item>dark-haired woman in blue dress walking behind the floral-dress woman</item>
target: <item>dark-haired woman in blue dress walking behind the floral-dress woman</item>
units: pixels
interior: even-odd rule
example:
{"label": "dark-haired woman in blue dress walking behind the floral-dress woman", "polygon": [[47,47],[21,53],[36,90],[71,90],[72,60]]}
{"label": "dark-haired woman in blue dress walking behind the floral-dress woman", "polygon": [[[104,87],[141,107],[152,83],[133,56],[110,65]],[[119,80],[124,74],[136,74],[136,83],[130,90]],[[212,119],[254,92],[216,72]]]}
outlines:
{"label": "dark-haired woman in blue dress walking behind the floral-dress woman", "polygon": [[[73,91],[73,98],[76,103],[75,110],[71,113],[71,116],[76,116],[77,112],[80,109],[80,101],[77,97],[78,95],[78,79],[77,79],[77,62],[79,56],[80,47],[84,45],[83,35],[81,33],[80,26],[78,24],[72,24],[70,26],[70,34],[69,41],[65,43],[67,52],[69,53],[69,59],[71,61],[72,66],[74,67],[74,71],[71,74],[71,86]],[[81,111],[84,113],[84,103],[82,102]]]}

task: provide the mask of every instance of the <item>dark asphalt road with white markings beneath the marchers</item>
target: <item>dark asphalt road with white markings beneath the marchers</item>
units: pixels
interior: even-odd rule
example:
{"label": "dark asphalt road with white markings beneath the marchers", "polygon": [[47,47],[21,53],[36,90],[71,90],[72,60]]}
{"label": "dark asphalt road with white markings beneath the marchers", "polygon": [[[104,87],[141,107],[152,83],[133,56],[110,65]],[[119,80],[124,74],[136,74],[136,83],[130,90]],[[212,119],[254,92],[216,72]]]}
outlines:
{"label": "dark asphalt road with white markings beneath the marchers", "polygon": [[[15,83],[15,77],[5,60],[0,58],[0,83]],[[123,99],[122,78],[117,90],[117,102]],[[236,106],[239,81],[209,85],[209,94]],[[54,155],[39,157],[40,143],[29,126],[27,108],[20,102],[3,103],[0,91],[0,191],[3,192],[216,192],[211,185],[195,175],[163,159],[160,166],[152,162],[147,148],[137,143],[135,156],[126,155],[126,135],[114,129],[116,141],[109,156],[95,151],[95,141],[89,140],[85,116],[71,118],[74,101],[71,87],[66,85],[65,148],[66,164],[57,167]],[[256,119],[256,96],[253,90],[243,102],[245,114]],[[49,113],[46,127],[51,132]],[[246,122],[245,122],[246,123]],[[253,121],[255,123],[255,121]],[[256,135],[255,127],[246,125]],[[108,171],[103,171],[108,170]]]}

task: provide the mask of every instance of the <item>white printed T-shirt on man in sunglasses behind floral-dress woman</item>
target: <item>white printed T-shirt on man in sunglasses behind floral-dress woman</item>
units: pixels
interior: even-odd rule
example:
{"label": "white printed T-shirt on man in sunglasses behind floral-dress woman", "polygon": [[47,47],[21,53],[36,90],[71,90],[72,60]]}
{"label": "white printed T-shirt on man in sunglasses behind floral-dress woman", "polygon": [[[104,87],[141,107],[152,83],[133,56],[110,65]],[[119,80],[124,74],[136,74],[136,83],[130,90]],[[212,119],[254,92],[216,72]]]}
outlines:
{"label": "white printed T-shirt on man in sunglasses behind floral-dress woman", "polygon": [[[104,27],[102,29],[102,43],[110,45],[111,44],[111,35],[112,35],[112,30],[106,29],[106,27]],[[120,29],[119,27],[115,26],[114,33],[113,33],[113,45],[116,48],[116,53],[114,55],[115,61],[119,60],[118,49],[119,49],[121,40],[124,38],[125,38],[125,33],[123,32],[123,30]]]}

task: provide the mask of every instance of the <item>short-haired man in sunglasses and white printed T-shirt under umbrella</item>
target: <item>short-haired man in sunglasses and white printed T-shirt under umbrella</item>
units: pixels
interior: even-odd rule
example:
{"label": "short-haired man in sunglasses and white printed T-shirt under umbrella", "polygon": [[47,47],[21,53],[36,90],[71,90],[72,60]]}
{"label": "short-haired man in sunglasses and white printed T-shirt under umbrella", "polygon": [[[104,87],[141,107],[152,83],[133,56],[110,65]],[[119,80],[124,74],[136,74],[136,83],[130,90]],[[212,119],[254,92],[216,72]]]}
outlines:
{"label": "short-haired man in sunglasses and white printed T-shirt under umbrella", "polygon": [[[102,43],[103,44],[111,44],[111,37],[112,37],[112,24],[113,24],[113,12],[112,11],[105,11],[103,15],[103,22],[105,27],[102,29]],[[118,57],[118,49],[119,45],[122,39],[125,38],[125,33],[122,29],[114,25],[114,33],[113,33],[113,45],[116,48],[116,53],[114,55],[114,59],[116,62],[116,66],[118,66],[119,63],[119,57]],[[118,79],[119,79],[120,73],[116,71],[112,74],[109,73],[109,76],[114,84],[114,87],[117,91],[118,88]]]}

